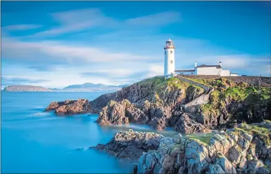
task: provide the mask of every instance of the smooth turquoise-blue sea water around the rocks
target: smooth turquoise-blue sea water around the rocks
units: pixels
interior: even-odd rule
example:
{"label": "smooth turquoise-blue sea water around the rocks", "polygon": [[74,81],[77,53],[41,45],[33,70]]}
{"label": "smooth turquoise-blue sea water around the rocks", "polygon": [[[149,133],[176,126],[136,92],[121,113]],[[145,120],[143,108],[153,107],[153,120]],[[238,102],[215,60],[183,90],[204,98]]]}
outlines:
{"label": "smooth turquoise-blue sea water around the rocks", "polygon": [[[88,98],[103,92],[1,93],[1,173],[130,173],[132,162],[88,149],[108,142],[114,133],[146,126],[100,127],[97,115],[54,116],[43,110],[53,100]],[[176,135],[164,131],[163,135]]]}

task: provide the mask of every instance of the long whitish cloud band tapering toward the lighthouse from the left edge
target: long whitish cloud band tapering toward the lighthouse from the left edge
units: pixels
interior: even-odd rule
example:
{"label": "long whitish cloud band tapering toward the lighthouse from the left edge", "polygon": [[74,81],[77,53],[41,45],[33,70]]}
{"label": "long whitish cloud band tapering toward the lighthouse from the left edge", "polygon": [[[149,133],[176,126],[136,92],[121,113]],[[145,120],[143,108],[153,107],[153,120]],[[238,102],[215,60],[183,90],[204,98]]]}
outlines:
{"label": "long whitish cloud band tapering toward the lighthouse from the left edge", "polygon": [[[14,50],[17,50],[14,52]],[[23,42],[2,39],[2,56],[37,63],[111,63],[116,61],[148,61],[150,57],[126,52],[107,52],[100,47],[64,44],[57,41]]]}

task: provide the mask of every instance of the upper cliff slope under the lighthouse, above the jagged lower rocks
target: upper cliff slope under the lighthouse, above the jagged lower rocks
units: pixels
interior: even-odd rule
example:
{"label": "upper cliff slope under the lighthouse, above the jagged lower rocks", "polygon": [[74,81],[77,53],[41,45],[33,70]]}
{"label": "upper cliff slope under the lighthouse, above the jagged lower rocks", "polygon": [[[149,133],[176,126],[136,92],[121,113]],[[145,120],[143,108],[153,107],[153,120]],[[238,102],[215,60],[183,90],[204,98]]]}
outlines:
{"label": "upper cliff slope under the lighthouse, above the jagged lower rocks", "polygon": [[185,83],[178,78],[164,80],[163,77],[154,77],[142,80],[139,83],[134,83],[128,87],[123,87],[120,91],[103,94],[99,96],[99,98],[91,101],[90,104],[94,109],[97,109],[97,111],[101,111],[110,100],[120,102],[123,99],[127,99],[139,105],[142,105],[145,100],[157,102],[161,99],[163,104],[170,106],[176,105],[177,102],[189,102],[202,93],[203,89]]}

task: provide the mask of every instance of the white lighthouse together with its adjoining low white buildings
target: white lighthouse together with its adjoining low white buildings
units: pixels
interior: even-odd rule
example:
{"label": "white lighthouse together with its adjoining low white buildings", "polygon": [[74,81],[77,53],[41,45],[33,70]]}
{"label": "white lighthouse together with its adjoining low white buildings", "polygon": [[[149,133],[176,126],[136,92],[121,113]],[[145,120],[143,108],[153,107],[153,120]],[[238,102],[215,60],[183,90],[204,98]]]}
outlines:
{"label": "white lighthouse together with its adjoining low white buildings", "polygon": [[175,70],[175,47],[173,41],[168,39],[165,41],[165,62],[164,62],[164,76],[170,77],[173,74],[195,74],[195,75],[216,75],[216,76],[238,76],[236,73],[231,73],[230,70],[222,69],[222,63],[219,65],[199,65],[194,63],[193,69],[179,69]]}

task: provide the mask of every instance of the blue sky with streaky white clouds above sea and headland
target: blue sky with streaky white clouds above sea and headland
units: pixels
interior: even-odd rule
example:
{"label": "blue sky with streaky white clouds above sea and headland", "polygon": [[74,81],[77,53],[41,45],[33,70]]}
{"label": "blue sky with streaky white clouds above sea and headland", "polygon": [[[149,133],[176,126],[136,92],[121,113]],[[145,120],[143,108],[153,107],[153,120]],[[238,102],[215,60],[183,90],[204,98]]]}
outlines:
{"label": "blue sky with streaky white clouds above sea and headland", "polygon": [[217,65],[270,76],[269,1],[1,1],[6,85],[123,85],[176,69]]}

